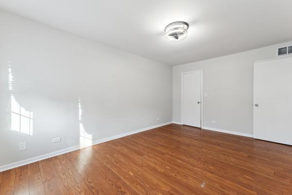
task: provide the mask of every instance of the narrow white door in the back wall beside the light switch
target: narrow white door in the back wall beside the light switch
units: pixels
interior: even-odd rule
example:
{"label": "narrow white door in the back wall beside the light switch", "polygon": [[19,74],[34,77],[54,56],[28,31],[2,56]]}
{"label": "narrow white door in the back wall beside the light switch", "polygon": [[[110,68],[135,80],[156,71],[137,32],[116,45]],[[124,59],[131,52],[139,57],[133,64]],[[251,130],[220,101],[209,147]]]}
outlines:
{"label": "narrow white door in the back wall beside the light switch", "polygon": [[182,122],[201,128],[201,72],[182,74]]}

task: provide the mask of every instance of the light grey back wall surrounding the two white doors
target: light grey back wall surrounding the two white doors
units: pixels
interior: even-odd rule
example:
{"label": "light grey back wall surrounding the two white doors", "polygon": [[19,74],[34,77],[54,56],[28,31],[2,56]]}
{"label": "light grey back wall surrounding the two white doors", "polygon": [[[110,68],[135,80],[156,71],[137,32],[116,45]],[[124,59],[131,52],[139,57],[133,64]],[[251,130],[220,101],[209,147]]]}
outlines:
{"label": "light grey back wall surrounding the two white doors", "polygon": [[275,58],[287,45],[292,42],[174,66],[173,121],[181,122],[181,73],[203,70],[203,127],[252,135],[254,62]]}

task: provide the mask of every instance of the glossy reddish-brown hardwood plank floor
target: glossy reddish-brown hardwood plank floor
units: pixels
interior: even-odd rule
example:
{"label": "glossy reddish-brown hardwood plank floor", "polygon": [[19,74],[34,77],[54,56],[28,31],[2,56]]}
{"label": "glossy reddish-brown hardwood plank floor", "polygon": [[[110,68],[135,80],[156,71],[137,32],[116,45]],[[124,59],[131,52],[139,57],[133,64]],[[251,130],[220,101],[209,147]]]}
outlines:
{"label": "glossy reddish-brown hardwood plank floor", "polygon": [[292,146],[170,124],[0,173],[0,195],[292,195]]}

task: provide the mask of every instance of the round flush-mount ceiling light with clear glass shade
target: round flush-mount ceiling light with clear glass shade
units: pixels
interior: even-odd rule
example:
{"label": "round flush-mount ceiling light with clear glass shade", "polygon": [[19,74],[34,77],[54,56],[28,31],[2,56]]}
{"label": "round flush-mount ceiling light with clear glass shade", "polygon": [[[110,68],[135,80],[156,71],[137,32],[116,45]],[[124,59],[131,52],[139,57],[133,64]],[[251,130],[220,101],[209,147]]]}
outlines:
{"label": "round flush-mount ceiling light with clear glass shade", "polygon": [[180,41],[186,38],[189,25],[184,21],[175,21],[168,24],[165,29],[165,37],[171,41]]}

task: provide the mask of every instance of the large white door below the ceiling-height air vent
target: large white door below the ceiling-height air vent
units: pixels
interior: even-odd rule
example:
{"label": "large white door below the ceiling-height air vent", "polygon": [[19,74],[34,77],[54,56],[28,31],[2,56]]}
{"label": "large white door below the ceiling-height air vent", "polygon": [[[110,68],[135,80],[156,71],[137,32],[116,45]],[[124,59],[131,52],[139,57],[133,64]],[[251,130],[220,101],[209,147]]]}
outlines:
{"label": "large white door below the ceiling-height air vent", "polygon": [[292,58],[255,63],[254,137],[292,145]]}

